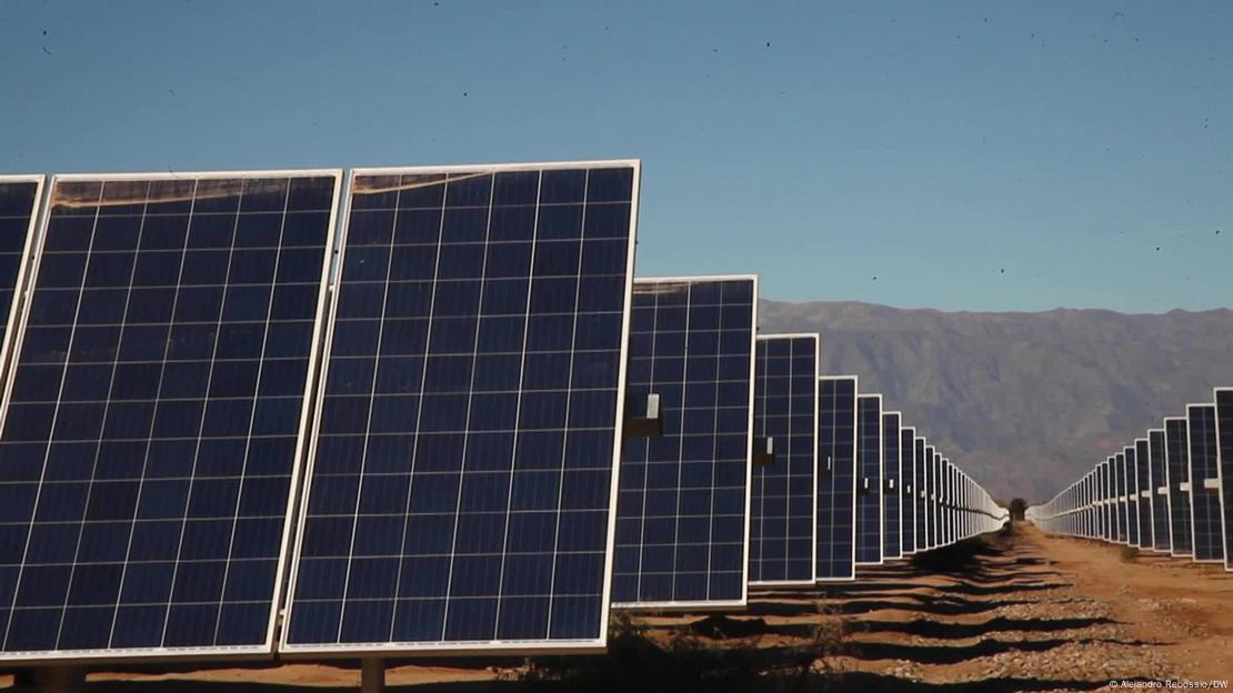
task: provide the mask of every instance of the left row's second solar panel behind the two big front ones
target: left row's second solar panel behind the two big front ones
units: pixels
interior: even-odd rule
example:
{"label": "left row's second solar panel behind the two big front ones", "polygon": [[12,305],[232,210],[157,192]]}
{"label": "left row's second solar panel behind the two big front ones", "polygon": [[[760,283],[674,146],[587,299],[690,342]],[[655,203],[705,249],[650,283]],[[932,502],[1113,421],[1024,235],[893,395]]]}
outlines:
{"label": "left row's second solar panel behind the two big front ones", "polygon": [[750,584],[814,582],[817,504],[817,334],[758,337],[753,435],[774,459],[755,466],[750,501]]}

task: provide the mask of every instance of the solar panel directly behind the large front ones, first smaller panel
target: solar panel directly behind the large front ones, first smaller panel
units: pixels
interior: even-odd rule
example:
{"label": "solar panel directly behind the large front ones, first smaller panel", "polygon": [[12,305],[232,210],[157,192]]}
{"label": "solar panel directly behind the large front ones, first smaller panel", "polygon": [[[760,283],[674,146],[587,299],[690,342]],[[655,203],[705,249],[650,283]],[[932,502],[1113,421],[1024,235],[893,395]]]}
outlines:
{"label": "solar panel directly behind the large front ones, first smaller panel", "polygon": [[756,284],[635,282],[629,391],[660,395],[665,434],[623,448],[614,604],[745,603]]}

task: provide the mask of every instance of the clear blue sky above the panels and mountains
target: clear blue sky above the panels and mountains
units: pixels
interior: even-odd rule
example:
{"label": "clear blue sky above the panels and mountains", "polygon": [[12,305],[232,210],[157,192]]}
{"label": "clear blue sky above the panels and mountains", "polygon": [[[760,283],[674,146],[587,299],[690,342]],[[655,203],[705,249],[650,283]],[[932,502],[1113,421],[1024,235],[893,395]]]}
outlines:
{"label": "clear blue sky above the panels and mountains", "polygon": [[7,0],[0,170],[639,157],[640,275],[1202,310],[1233,297],[1231,36],[1227,1]]}

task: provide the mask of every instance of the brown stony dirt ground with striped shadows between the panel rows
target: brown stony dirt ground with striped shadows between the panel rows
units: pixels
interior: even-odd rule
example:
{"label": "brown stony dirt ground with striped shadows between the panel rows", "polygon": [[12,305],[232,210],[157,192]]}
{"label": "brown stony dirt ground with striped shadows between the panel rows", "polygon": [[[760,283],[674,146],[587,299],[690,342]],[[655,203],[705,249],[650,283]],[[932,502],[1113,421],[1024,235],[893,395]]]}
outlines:
{"label": "brown stony dirt ground with striped shadows between the panel rows", "polygon": [[[1233,683],[1233,575],[1046,536],[1032,527],[760,591],[747,610],[623,619],[607,657],[412,662],[391,691],[1099,691],[1122,679]],[[428,666],[428,665],[432,666]],[[0,686],[5,682],[0,679]],[[106,673],[90,691],[355,691],[354,668]]]}

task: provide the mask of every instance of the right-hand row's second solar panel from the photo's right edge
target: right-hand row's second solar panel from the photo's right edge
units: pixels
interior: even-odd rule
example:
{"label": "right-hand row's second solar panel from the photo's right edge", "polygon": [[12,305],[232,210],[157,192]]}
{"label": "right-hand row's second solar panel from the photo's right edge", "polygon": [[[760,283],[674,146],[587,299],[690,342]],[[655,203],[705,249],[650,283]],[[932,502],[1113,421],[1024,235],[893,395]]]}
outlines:
{"label": "right-hand row's second solar panel from the photo's right edge", "polygon": [[1186,407],[1186,437],[1190,440],[1190,522],[1195,562],[1224,562],[1213,404]]}

